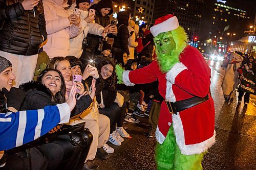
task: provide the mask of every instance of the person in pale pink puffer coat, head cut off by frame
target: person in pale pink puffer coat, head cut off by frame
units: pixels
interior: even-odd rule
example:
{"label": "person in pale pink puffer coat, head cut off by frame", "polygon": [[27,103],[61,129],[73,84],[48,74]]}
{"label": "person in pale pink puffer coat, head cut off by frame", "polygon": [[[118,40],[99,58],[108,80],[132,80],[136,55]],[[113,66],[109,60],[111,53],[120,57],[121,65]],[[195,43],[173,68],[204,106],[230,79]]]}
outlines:
{"label": "person in pale pink puffer coat, head cut off by frame", "polygon": [[64,8],[68,7],[67,0],[44,0],[46,31],[48,40],[44,51],[50,59],[69,55],[70,38],[76,37],[81,27],[80,17],[69,15]]}

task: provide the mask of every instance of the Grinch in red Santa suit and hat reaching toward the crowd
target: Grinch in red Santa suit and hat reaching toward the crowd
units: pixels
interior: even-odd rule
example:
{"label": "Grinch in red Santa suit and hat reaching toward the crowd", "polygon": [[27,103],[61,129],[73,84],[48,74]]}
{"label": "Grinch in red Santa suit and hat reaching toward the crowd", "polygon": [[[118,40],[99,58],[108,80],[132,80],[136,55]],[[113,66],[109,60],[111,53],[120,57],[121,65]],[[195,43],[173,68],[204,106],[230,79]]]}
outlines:
{"label": "Grinch in red Santa suit and hat reaching toward the crowd", "polygon": [[151,28],[157,60],[134,71],[117,67],[119,83],[159,82],[161,104],[156,139],[158,169],[202,169],[204,153],[215,143],[215,108],[210,68],[202,54],[186,44],[176,16],[158,18]]}

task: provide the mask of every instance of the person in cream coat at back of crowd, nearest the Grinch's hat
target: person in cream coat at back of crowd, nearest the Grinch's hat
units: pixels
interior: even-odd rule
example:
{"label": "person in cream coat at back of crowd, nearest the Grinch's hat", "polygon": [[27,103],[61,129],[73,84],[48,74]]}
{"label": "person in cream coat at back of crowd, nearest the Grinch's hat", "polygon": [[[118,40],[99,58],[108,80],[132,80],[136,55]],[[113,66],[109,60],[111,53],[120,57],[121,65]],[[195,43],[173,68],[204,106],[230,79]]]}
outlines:
{"label": "person in cream coat at back of crowd, nearest the Grinch's hat", "polygon": [[129,52],[130,52],[130,58],[129,59],[134,59],[134,49],[136,46],[138,46],[138,42],[136,42],[136,32],[134,30],[135,28],[135,22],[133,20],[129,21],[129,35],[130,37],[128,38],[128,47],[129,47]]}

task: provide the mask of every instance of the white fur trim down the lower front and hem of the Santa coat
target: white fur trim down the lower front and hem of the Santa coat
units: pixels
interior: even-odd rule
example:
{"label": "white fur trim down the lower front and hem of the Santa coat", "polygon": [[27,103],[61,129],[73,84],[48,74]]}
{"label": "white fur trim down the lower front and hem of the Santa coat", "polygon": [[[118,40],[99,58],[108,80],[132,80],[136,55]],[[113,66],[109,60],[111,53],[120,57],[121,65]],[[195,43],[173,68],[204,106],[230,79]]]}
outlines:
{"label": "white fur trim down the lower front and hem of the Santa coat", "polygon": [[214,134],[212,134],[212,137],[210,137],[209,139],[201,143],[186,145],[184,138],[184,130],[179,112],[177,112],[177,115],[173,114],[173,124],[176,142],[180,148],[181,154],[183,155],[201,154],[215,143],[216,132],[214,131]]}

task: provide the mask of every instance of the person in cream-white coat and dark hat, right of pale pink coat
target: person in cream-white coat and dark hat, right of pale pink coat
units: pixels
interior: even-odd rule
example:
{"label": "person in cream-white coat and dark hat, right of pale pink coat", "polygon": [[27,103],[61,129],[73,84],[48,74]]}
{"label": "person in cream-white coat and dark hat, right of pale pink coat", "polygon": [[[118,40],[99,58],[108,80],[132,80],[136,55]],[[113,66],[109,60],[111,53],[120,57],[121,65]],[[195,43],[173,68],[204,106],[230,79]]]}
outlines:
{"label": "person in cream-white coat and dark hat, right of pale pink coat", "polygon": [[94,15],[89,15],[89,7],[90,7],[90,0],[77,0],[76,3],[72,4],[71,7],[68,9],[69,13],[72,14],[74,8],[78,8],[80,10],[80,19],[81,23],[80,26],[81,31],[77,37],[70,39],[70,56],[75,56],[76,58],[80,58],[82,55],[82,43],[83,39],[87,36],[88,33],[98,35],[98,36],[105,36],[105,29],[104,27],[98,25],[94,22]]}

